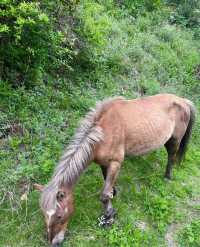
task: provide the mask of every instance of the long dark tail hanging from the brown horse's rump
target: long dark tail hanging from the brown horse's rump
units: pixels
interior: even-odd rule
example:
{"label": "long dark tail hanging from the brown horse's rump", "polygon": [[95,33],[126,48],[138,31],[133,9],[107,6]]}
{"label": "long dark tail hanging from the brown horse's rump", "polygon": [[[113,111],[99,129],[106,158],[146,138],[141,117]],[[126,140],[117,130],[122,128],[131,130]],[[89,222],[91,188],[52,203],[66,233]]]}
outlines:
{"label": "long dark tail hanging from the brown horse's rump", "polygon": [[177,156],[176,157],[177,157],[177,161],[178,161],[179,164],[184,159],[185,153],[187,151],[187,146],[188,146],[188,143],[190,141],[192,128],[193,128],[193,125],[194,125],[194,122],[195,122],[195,115],[196,115],[196,109],[195,109],[194,104],[190,100],[185,99],[185,101],[186,101],[186,104],[190,108],[190,120],[189,120],[187,129],[186,129],[186,132],[185,132],[185,134],[184,134],[184,136],[183,136],[183,138],[181,140],[179,149],[177,151]]}

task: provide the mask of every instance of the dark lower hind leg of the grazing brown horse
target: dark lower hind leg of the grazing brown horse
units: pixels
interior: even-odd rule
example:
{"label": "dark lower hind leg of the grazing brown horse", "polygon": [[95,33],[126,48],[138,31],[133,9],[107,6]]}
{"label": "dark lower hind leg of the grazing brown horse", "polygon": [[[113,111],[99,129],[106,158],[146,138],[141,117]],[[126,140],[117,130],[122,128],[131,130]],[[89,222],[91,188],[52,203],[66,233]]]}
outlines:
{"label": "dark lower hind leg of the grazing brown horse", "polygon": [[168,154],[167,167],[165,172],[165,177],[171,179],[172,176],[172,167],[176,162],[176,153],[179,148],[179,142],[176,138],[171,137],[168,142],[165,144]]}

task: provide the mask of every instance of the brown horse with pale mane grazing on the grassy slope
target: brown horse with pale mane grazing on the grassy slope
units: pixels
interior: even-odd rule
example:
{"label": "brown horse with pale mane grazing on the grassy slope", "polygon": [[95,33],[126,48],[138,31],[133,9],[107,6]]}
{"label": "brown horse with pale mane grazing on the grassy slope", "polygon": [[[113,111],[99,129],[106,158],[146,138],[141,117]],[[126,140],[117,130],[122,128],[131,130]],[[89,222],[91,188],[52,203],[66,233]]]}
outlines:
{"label": "brown horse with pale mane grazing on the grassy slope", "polygon": [[111,203],[116,192],[114,184],[125,155],[142,155],[165,146],[165,177],[171,178],[174,162],[183,159],[194,119],[192,102],[171,94],[134,100],[113,98],[90,111],[49,184],[37,186],[42,191],[40,204],[52,246],[64,239],[74,211],[73,186],[89,163],[95,161],[102,169],[105,183],[100,199],[104,215],[100,224],[110,225],[116,214]]}

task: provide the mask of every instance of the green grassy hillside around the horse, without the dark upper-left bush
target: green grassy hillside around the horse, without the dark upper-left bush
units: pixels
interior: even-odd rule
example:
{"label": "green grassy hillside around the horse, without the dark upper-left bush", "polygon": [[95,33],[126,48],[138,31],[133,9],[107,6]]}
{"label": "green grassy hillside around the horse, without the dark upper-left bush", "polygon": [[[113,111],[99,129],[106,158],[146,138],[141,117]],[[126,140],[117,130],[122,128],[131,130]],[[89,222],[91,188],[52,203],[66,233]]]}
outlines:
{"label": "green grassy hillside around the horse, without the dark upper-left bush", "polygon": [[[82,35],[93,34],[87,37],[89,46],[83,54],[93,52],[97,62],[90,64],[95,65],[92,71],[79,68],[73,80],[57,82],[56,87],[49,83],[14,91],[1,85],[1,109],[9,108],[1,121],[19,121],[25,129],[23,135],[1,140],[0,192],[5,200],[0,208],[0,246],[47,246],[39,195],[29,185],[48,181],[80,117],[97,99],[173,92],[200,107],[195,75],[199,47],[192,31],[170,25],[166,12],[131,20],[99,5],[95,13],[98,17],[103,12],[106,21],[97,18],[98,25],[90,26],[94,17],[89,22],[87,18],[94,6],[85,2],[77,11],[85,30]],[[63,246],[166,246],[171,239],[180,246],[200,246],[199,121],[186,160],[174,169],[171,182],[163,179],[164,150],[126,159],[114,199],[118,218],[107,230],[97,226],[102,176],[97,166],[90,166],[76,187],[76,212]],[[27,190],[28,200],[21,201]]]}

